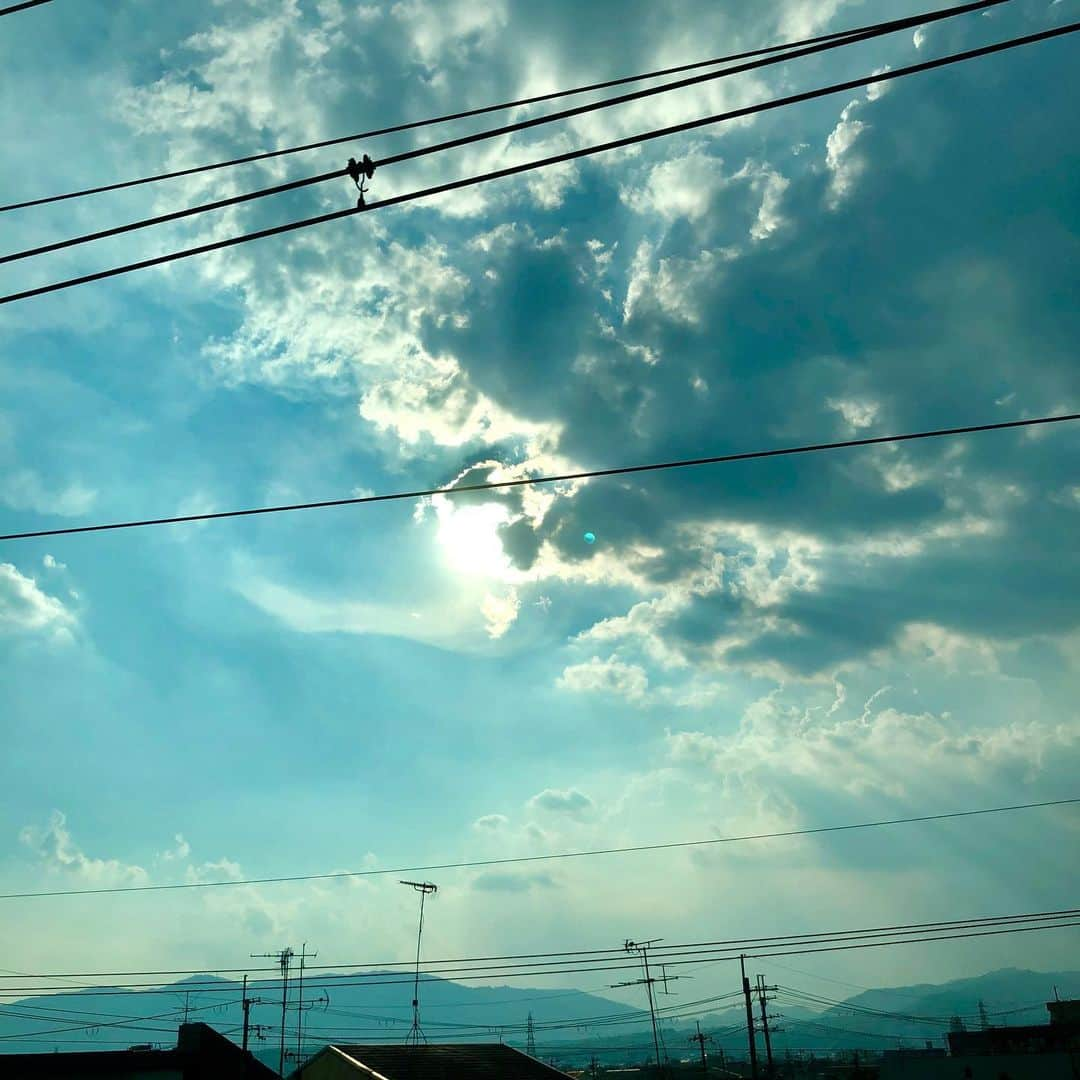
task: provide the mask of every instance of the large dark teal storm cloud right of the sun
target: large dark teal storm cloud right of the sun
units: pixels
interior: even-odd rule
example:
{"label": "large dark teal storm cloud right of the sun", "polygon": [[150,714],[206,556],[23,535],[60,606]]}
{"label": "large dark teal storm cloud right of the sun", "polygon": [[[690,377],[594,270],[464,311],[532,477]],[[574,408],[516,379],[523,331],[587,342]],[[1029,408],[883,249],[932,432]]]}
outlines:
{"label": "large dark teal storm cloud right of the sun", "polygon": [[[751,242],[760,194],[739,183],[720,184],[700,218],[659,233],[653,221],[651,281],[625,323],[618,309],[646,232],[613,185],[594,180],[591,215],[556,242],[542,243],[532,215],[535,234],[518,229],[492,246],[495,281],[474,276],[469,326],[433,329],[429,347],[451,351],[505,408],[562,421],[561,449],[590,465],[846,437],[843,401],[874,404],[873,433],[1072,407],[1080,140],[1063,138],[1078,125],[1063,87],[1075,82],[1052,44],[912,80],[877,100],[859,95],[850,117],[865,126],[847,160],[861,168],[835,208],[820,140],[793,157],[791,127],[729,137],[717,174],[738,173],[743,154],[786,174],[787,224]],[[632,170],[640,185],[656,160],[649,151]],[[606,276],[590,270],[594,235],[618,242]],[[723,268],[691,272],[702,253],[735,243]],[[665,259],[676,268],[665,287],[696,321],[656,292]],[[612,282],[608,301],[600,288]],[[643,362],[642,347],[659,362]],[[770,608],[780,627],[727,657],[811,673],[889,644],[910,621],[1002,638],[1075,626],[1080,561],[1066,538],[1078,464],[1077,433],[1063,428],[597,483],[559,501],[537,540],[567,558],[595,557],[576,541],[598,527],[617,549],[657,544],[687,565],[698,556],[677,557],[676,528],[710,517],[856,546],[924,537],[966,513],[993,523],[865,567],[826,557],[816,589]],[[890,481],[897,468],[907,478]],[[529,565],[536,543],[521,525],[513,546]],[[658,559],[658,583],[670,566]],[[696,597],[663,632],[705,644],[732,605]]]}

